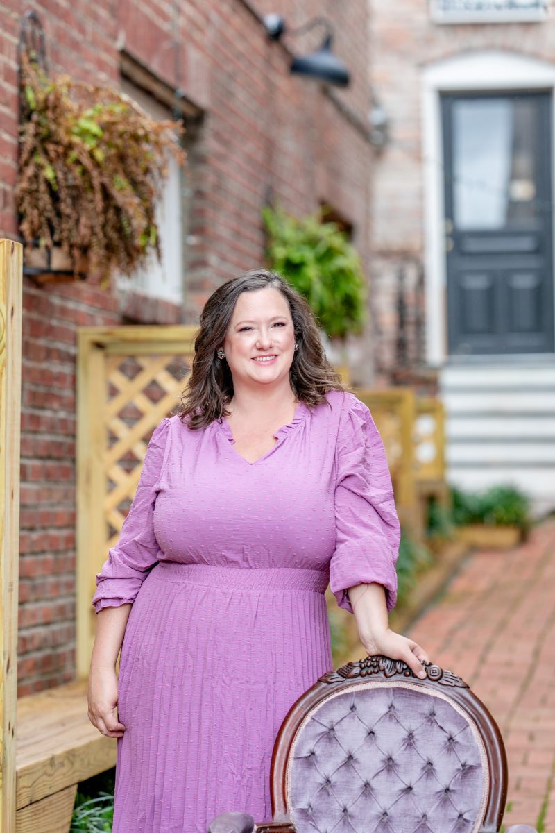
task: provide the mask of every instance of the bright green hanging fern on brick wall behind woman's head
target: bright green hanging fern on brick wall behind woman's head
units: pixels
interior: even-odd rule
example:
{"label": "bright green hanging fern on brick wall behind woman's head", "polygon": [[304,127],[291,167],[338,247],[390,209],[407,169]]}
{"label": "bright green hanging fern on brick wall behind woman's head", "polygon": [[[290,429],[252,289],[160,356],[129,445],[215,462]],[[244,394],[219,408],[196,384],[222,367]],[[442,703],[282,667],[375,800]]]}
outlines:
{"label": "bright green hanging fern on brick wall behind woman's head", "polygon": [[303,295],[330,338],[344,339],[362,330],[365,282],[360,258],[337,223],[316,215],[297,219],[281,208],[266,207],[266,257]]}

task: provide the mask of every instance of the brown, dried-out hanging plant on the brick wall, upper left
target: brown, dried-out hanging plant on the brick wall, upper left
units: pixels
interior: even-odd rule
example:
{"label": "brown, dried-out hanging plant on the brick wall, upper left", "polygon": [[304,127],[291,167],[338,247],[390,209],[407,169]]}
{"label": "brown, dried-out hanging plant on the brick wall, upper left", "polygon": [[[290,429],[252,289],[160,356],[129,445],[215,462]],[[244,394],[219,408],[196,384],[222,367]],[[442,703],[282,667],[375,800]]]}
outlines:
{"label": "brown, dried-out hanging plant on the brick wall, upper left", "polygon": [[104,281],[129,275],[151,249],[161,256],[155,207],[171,153],[185,152],[179,122],[156,122],[107,87],[47,77],[22,64],[24,112],[16,187],[26,243],[62,247]]}

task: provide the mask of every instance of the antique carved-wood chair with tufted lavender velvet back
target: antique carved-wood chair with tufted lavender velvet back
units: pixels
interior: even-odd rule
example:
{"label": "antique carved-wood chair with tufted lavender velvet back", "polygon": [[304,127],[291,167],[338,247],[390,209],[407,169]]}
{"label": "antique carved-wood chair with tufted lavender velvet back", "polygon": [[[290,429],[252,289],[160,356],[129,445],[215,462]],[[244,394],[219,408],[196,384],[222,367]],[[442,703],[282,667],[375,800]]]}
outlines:
{"label": "antique carved-wood chair with tufted lavender velvet back", "polygon": [[274,821],[223,813],[210,833],[496,833],[507,796],[498,726],[460,677],[426,673],[372,656],[320,677],[275,741]]}

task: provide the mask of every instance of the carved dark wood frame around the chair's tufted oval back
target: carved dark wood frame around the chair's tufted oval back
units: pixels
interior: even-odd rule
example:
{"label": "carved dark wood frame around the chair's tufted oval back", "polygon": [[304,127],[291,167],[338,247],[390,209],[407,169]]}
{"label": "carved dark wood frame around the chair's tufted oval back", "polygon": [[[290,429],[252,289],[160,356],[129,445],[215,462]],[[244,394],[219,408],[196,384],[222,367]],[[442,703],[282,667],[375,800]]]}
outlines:
{"label": "carved dark wood frame around the chair's tufted oval back", "polygon": [[349,662],[338,671],[329,671],[305,691],[305,694],[291,706],[275,739],[270,768],[270,796],[274,821],[257,824],[256,833],[295,833],[295,825],[287,806],[287,766],[297,731],[310,711],[339,692],[354,690],[362,683],[383,683],[394,678],[402,678],[411,684],[422,686],[424,691],[441,691],[444,697],[447,696],[456,703],[472,719],[482,738],[490,773],[488,800],[481,830],[498,831],[507,801],[508,781],[507,756],[498,725],[483,702],[460,677],[432,663],[424,667],[427,677],[425,680],[419,680],[402,661],[391,660],[386,656],[368,656],[363,660]]}

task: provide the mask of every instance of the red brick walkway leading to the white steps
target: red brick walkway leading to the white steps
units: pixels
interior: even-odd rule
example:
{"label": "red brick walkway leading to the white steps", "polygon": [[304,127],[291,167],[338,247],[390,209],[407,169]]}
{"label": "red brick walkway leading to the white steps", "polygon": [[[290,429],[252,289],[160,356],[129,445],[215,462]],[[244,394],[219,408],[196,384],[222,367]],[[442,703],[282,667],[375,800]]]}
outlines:
{"label": "red brick walkway leading to the white steps", "polygon": [[555,521],[469,556],[410,635],[488,706],[508,755],[506,826],[555,833]]}

